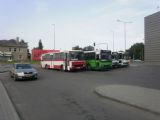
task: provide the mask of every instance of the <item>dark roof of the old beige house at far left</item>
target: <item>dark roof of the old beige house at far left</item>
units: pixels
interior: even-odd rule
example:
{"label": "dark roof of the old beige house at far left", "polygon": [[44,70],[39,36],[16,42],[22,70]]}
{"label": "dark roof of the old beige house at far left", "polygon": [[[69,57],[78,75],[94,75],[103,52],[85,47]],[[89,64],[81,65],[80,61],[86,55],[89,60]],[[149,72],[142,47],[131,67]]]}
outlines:
{"label": "dark roof of the old beige house at far left", "polygon": [[10,40],[0,40],[0,46],[4,47],[28,47],[27,43],[23,40],[18,41],[15,39]]}

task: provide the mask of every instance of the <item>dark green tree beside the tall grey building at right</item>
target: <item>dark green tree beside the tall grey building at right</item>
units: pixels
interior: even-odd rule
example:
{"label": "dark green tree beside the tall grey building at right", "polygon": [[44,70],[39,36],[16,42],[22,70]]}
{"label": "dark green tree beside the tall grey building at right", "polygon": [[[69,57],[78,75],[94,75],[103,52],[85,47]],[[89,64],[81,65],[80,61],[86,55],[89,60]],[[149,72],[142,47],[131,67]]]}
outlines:
{"label": "dark green tree beside the tall grey building at right", "polygon": [[143,43],[136,43],[128,49],[129,56],[132,59],[140,59],[144,60],[144,44]]}

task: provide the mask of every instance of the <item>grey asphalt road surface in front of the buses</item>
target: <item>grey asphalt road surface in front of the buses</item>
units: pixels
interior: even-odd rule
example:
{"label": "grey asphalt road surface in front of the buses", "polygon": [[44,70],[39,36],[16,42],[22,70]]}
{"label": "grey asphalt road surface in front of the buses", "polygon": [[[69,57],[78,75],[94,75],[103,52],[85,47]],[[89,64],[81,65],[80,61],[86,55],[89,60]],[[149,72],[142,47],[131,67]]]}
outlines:
{"label": "grey asphalt road surface in front of the buses", "polygon": [[37,67],[36,81],[13,81],[0,73],[22,120],[159,120],[160,116],[102,98],[94,89],[129,84],[160,89],[160,66],[133,65],[111,71],[61,72]]}

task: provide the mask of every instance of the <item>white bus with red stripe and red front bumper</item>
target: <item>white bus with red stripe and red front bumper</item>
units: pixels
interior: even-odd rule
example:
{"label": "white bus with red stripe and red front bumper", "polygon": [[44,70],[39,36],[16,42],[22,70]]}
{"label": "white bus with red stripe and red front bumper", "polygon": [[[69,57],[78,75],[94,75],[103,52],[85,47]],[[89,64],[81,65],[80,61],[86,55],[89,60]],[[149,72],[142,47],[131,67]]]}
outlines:
{"label": "white bus with red stripe and red front bumper", "polygon": [[84,53],[81,50],[70,50],[42,54],[41,67],[63,71],[86,69]]}

